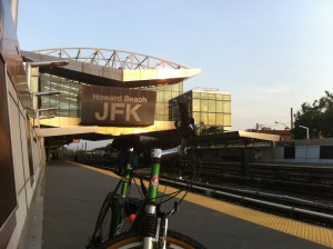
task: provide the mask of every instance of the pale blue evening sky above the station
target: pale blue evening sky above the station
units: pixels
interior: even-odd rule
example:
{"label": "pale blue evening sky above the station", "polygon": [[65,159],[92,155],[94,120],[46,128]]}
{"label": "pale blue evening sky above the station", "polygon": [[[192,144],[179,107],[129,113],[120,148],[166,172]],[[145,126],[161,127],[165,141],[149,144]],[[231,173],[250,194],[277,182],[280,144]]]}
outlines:
{"label": "pale blue evening sky above the station", "polygon": [[200,68],[184,90],[230,92],[232,130],[290,127],[291,109],[332,92],[332,0],[21,0],[18,38]]}

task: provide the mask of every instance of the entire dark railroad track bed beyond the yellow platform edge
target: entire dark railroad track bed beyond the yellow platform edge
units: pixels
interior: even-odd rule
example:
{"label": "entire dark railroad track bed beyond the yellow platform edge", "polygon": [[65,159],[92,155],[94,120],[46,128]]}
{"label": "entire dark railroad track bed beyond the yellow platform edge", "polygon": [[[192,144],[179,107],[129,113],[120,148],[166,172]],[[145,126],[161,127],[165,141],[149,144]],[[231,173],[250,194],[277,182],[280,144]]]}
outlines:
{"label": "entire dark railroad track bed beyond the yellow platform edge", "polygon": [[[111,161],[108,162],[108,160],[98,161],[91,159],[79,160],[79,162],[109,170],[113,170],[112,165],[114,165]],[[250,167],[253,166],[251,165]],[[283,170],[287,170],[290,167],[287,166]],[[216,171],[216,165],[213,167],[203,165],[200,177],[192,183],[192,190],[212,198],[333,228],[332,185],[276,180],[273,179],[272,175],[270,178],[262,178],[255,175],[244,177],[235,168],[236,165],[233,163],[226,166],[224,170],[219,169]],[[259,165],[259,168],[272,170],[271,166]],[[180,179],[180,169],[174,163],[163,167],[162,173],[169,179],[164,180],[163,183],[178,188],[186,186],[188,183]],[[303,168],[297,167],[297,169],[302,170]],[[295,169],[292,168],[292,170]],[[314,169],[310,170],[314,171]],[[330,170],[331,168],[329,168]],[[191,169],[184,169],[181,173],[183,178],[186,178],[186,176],[191,178],[194,172]]]}

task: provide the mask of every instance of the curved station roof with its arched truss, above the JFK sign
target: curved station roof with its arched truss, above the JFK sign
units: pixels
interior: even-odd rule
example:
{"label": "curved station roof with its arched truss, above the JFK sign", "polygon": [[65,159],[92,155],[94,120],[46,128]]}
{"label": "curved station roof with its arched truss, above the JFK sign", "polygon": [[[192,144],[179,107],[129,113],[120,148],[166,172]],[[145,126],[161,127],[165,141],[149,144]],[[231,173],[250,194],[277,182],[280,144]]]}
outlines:
{"label": "curved station roof with its arched truss, above the JFK sign", "polygon": [[65,59],[68,66],[42,67],[41,71],[91,84],[131,88],[172,84],[201,71],[157,57],[111,49],[57,48],[21,52],[30,62]]}

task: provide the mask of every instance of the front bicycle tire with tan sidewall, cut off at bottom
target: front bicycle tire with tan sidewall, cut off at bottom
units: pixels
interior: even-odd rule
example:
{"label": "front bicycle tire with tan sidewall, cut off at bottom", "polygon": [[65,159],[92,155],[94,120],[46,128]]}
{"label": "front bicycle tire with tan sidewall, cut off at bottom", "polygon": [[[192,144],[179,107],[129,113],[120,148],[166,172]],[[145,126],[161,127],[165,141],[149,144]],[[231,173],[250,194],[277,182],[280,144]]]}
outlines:
{"label": "front bicycle tire with tan sidewall, cut off at bottom", "polygon": [[[141,249],[142,248],[142,235],[138,232],[124,232],[117,237],[113,237],[105,243],[101,245],[99,249]],[[167,249],[206,249],[200,242],[192,238],[169,230],[167,236]]]}

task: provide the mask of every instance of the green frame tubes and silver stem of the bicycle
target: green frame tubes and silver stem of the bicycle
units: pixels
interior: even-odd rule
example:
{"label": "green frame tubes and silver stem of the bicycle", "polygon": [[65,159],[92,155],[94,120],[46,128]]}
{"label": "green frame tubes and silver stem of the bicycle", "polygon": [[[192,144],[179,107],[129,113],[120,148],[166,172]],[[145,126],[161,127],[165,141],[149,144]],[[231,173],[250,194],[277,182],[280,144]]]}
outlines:
{"label": "green frame tubes and silver stem of the bicycle", "polygon": [[[157,231],[157,228],[159,226],[157,199],[159,192],[158,188],[160,183],[161,157],[175,153],[178,153],[178,148],[163,151],[161,149],[152,150],[152,165],[150,170],[149,189],[141,207],[137,212],[135,219],[129,229],[129,231],[135,231],[138,233],[140,232],[143,236],[143,248],[150,248],[150,246],[153,245],[154,241],[157,241],[155,236],[159,235],[157,233],[159,232]],[[110,207],[108,206],[108,203],[111,205],[111,223],[110,230],[108,232],[109,239],[117,233],[117,230],[123,220],[122,199],[129,196],[128,191],[132,177],[132,166],[128,163],[124,166],[123,172],[121,173],[121,178],[117,187],[112,192],[108,195],[102,205],[103,209],[98,217],[94,233],[91,237],[92,242],[99,239],[99,229],[101,228],[101,225],[108,212],[108,208]]]}

